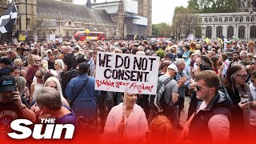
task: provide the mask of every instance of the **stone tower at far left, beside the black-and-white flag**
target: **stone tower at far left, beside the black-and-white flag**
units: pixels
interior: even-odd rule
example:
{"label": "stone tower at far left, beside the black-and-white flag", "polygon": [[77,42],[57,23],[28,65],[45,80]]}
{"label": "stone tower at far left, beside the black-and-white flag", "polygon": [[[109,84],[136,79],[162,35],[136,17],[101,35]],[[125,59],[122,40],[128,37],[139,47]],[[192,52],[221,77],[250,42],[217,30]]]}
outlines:
{"label": "stone tower at far left, beside the black-and-white flag", "polygon": [[[34,30],[38,27],[37,19],[37,1],[13,0],[18,9],[18,18],[16,21],[16,30],[19,34],[28,37],[33,36]],[[26,33],[27,32],[27,33]]]}

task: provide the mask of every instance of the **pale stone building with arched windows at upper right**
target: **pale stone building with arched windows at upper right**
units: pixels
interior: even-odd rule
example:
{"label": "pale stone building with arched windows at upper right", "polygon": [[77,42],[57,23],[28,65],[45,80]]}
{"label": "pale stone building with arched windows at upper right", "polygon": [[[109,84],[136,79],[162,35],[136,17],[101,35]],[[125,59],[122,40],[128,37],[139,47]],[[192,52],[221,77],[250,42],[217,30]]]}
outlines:
{"label": "pale stone building with arched windows at upper right", "polygon": [[242,41],[256,40],[256,12],[198,14],[201,31],[193,31],[195,37],[205,39],[239,38]]}

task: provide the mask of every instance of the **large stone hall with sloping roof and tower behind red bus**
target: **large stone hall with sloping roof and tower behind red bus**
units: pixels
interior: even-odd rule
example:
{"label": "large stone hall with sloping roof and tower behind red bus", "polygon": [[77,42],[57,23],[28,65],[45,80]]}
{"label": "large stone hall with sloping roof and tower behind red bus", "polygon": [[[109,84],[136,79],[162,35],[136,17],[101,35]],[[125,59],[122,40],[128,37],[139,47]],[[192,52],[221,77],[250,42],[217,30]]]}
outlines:
{"label": "large stone hall with sloping roof and tower behind red bus", "polygon": [[[102,31],[106,38],[124,38],[131,33],[152,33],[152,0],[121,0],[101,4],[96,3],[96,0],[93,3],[87,0],[86,6],[75,5],[74,0],[12,1],[18,8],[14,32],[26,35],[28,40],[44,41],[49,38],[49,34],[68,40],[75,32],[86,29]],[[2,0],[0,14],[9,5],[9,0]],[[95,7],[100,5],[114,6],[114,12]]]}

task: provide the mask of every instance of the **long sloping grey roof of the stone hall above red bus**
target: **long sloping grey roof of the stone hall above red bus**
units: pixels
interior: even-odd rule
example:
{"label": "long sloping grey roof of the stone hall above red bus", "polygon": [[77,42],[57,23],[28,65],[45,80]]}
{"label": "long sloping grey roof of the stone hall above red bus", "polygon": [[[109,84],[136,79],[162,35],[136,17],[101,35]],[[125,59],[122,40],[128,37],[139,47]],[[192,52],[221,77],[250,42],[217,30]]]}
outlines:
{"label": "long sloping grey roof of the stone hall above red bus", "polygon": [[90,10],[86,6],[55,0],[37,0],[37,14],[41,18],[71,18],[73,21],[114,23],[106,10]]}

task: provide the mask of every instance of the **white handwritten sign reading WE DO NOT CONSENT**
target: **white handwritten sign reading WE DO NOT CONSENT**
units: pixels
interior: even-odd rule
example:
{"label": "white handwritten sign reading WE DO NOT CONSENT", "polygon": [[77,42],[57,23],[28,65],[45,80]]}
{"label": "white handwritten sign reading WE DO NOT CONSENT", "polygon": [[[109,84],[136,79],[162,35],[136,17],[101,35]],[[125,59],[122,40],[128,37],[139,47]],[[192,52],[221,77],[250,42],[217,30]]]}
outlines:
{"label": "white handwritten sign reading WE DO NOT CONSENT", "polygon": [[156,94],[159,57],[98,51],[95,90]]}

